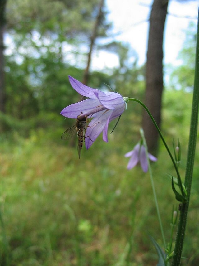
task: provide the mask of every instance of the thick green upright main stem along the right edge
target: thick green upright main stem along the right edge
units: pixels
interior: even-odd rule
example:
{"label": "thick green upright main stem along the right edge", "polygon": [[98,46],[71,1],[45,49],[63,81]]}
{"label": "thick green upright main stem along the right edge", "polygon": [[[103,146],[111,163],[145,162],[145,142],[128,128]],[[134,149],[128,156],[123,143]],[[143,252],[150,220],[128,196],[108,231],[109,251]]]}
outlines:
{"label": "thick green upright main stem along the right edge", "polygon": [[187,202],[182,204],[182,208],[180,211],[172,266],[180,265],[180,259],[181,259],[181,254],[183,250],[183,241],[184,241],[185,228],[186,228],[186,223],[187,223],[187,213],[188,213],[188,207],[189,207],[189,198],[190,198],[190,190],[191,190],[192,174],[193,174],[193,164],[194,164],[194,156],[195,156],[195,149],[196,149],[198,104],[199,104],[199,10],[198,10],[196,67],[195,67],[195,78],[194,78],[194,87],[193,87],[192,114],[191,114],[191,125],[190,125],[190,134],[189,134],[189,145],[188,145],[188,152],[187,152],[187,166],[186,166],[185,182],[184,182],[184,185],[187,189]]}

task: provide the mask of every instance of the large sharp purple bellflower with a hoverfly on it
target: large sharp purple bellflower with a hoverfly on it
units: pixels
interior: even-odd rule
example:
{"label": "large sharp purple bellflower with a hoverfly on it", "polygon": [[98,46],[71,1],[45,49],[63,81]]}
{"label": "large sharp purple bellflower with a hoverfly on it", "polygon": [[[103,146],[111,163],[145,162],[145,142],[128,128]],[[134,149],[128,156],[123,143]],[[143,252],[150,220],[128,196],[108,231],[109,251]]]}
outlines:
{"label": "large sharp purple bellflower with a hoverfly on it", "polygon": [[125,109],[123,97],[115,92],[92,89],[71,76],[68,77],[73,89],[90,99],[71,104],[65,107],[60,114],[68,118],[77,118],[78,115],[93,118],[86,128],[86,149],[90,147],[102,131],[103,140],[108,142],[107,131],[110,121],[120,116]]}

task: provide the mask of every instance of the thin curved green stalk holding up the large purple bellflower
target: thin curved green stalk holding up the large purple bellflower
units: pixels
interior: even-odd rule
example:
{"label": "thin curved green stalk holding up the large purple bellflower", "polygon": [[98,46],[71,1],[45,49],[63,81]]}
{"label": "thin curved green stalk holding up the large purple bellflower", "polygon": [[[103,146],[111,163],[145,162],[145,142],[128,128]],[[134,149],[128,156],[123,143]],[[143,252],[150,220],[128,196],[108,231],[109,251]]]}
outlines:
{"label": "thin curved green stalk holding up the large purple bellflower", "polygon": [[[124,98],[124,99],[125,99],[125,98]],[[177,165],[176,165],[176,163],[175,163],[175,160],[174,160],[174,158],[173,158],[173,156],[172,156],[172,154],[171,154],[171,152],[170,152],[170,150],[169,150],[169,147],[167,146],[167,143],[165,142],[165,140],[164,140],[164,138],[163,138],[163,135],[162,135],[162,133],[160,132],[160,129],[159,129],[157,123],[155,122],[155,119],[153,118],[152,114],[150,113],[149,109],[146,107],[145,104],[143,104],[140,100],[138,100],[138,99],[136,99],[136,98],[126,98],[126,99],[127,99],[127,101],[134,101],[134,102],[137,102],[137,103],[141,104],[141,105],[144,107],[144,109],[146,110],[146,112],[148,113],[148,115],[150,116],[150,119],[151,119],[152,122],[154,123],[154,126],[155,126],[155,128],[157,129],[157,131],[158,131],[158,133],[159,133],[159,135],[160,135],[160,138],[162,139],[162,141],[163,141],[163,143],[164,143],[164,146],[165,146],[165,148],[167,149],[167,152],[169,153],[169,156],[170,156],[170,158],[171,158],[171,160],[172,160],[172,162],[173,162],[173,165],[174,165],[174,167],[175,167],[175,171],[176,171],[177,176],[178,176],[178,185],[179,185],[180,191],[181,191],[182,195],[183,195],[184,197],[186,197],[186,195],[185,195],[185,193],[184,193],[184,190],[183,190],[183,184],[182,184],[182,180],[181,180],[181,177],[180,177],[180,174],[179,174],[179,171],[178,171],[178,167],[177,167]]]}

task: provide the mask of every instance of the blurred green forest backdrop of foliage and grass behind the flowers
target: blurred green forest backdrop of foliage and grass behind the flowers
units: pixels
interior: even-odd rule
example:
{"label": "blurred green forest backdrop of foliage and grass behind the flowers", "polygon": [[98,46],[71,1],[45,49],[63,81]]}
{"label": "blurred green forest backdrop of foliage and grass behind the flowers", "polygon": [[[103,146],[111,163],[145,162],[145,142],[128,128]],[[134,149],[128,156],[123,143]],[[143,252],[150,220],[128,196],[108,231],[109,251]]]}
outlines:
{"label": "blurred green forest backdrop of foliage and grass behind the flowers", "polygon": [[[139,141],[143,110],[128,104],[117,128],[79,160],[76,138],[61,134],[73,123],[59,113],[81,100],[67,75],[92,88],[144,100],[145,65],[127,43],[114,40],[108,10],[98,0],[14,1],[5,9],[9,47],[4,50],[5,94],[0,113],[1,263],[6,236],[11,265],[154,265],[155,249],[147,231],[161,244],[148,174],[126,170],[124,154]],[[95,25],[97,25],[96,34]],[[88,67],[95,51],[118,56],[119,66]],[[110,42],[111,37],[111,42]],[[186,31],[182,64],[165,66],[162,132],[172,147],[182,142],[184,173],[194,80],[196,23]],[[92,61],[92,52],[90,60]],[[86,81],[85,81],[86,79]],[[114,122],[109,129],[114,127]],[[76,137],[76,136],[75,136]],[[198,148],[198,146],[197,146]],[[152,165],[166,238],[173,205],[178,203],[167,173],[173,171],[159,141]],[[196,152],[192,195],[182,265],[199,264],[199,155]],[[102,167],[103,166],[103,167]]]}

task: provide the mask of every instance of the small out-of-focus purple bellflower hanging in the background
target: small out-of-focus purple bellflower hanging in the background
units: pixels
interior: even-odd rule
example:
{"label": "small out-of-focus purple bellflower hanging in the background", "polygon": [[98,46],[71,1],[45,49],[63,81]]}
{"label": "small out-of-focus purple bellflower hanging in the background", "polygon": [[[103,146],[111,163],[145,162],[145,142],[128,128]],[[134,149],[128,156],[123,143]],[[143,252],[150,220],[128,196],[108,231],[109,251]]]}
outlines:
{"label": "small out-of-focus purple bellflower hanging in the background", "polygon": [[[151,161],[153,162],[157,161],[157,158],[155,156],[153,156],[150,153],[148,153],[148,155]],[[132,151],[127,152],[124,156],[131,157],[127,165],[128,170],[132,169],[134,166],[137,165],[138,162],[140,162],[142,170],[145,173],[147,172],[148,162],[146,158],[146,150],[145,150],[144,145],[140,145],[140,143],[138,143]]]}

